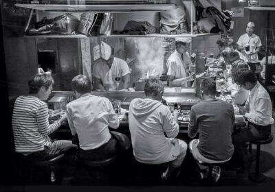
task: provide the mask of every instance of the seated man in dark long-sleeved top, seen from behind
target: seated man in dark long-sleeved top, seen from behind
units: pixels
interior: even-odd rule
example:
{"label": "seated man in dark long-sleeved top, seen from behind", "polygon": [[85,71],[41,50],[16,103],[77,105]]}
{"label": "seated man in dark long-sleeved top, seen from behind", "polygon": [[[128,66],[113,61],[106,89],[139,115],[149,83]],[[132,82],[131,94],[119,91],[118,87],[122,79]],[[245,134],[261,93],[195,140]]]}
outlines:
{"label": "seated man in dark long-sleeved top, seen from behind", "polygon": [[[192,106],[188,136],[199,139],[189,143],[192,156],[199,163],[222,163],[230,160],[234,147],[231,134],[234,125],[234,108],[232,104],[215,98],[216,84],[210,78],[201,81],[201,98],[203,101]],[[208,176],[207,167],[199,165],[201,178]],[[204,168],[204,169],[203,169]],[[213,178],[217,182],[221,169],[214,167]]]}

